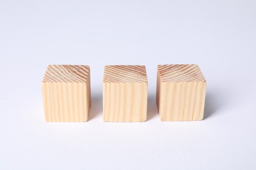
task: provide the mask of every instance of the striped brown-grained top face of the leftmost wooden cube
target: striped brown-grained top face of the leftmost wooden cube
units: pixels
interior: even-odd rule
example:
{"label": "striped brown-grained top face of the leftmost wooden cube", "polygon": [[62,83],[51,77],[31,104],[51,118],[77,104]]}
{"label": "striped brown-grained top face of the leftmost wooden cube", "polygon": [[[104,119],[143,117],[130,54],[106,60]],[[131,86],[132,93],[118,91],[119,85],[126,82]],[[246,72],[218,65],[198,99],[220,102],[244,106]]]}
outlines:
{"label": "striped brown-grained top face of the leftmost wooden cube", "polygon": [[49,65],[43,82],[87,82],[88,65]]}

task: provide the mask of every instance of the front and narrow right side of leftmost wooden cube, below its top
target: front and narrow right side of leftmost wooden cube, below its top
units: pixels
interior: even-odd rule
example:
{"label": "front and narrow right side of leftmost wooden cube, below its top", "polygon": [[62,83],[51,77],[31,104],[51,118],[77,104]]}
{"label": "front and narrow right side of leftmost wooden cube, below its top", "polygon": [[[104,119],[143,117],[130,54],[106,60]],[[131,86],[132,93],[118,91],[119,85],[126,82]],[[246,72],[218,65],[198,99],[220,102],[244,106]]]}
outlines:
{"label": "front and narrow right side of leftmost wooden cube, below its top", "polygon": [[86,122],[89,113],[88,82],[43,82],[46,122]]}

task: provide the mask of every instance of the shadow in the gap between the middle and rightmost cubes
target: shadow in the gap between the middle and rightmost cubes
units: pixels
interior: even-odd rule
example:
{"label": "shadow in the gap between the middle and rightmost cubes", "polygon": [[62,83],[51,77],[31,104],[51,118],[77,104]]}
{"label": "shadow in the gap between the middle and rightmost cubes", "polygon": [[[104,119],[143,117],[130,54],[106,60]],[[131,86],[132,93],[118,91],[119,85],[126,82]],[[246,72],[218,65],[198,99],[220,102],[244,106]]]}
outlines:
{"label": "shadow in the gap between the middle and rightmost cubes", "polygon": [[158,115],[158,107],[156,106],[156,95],[149,93],[148,94],[148,112],[147,112],[147,120],[154,118],[154,116]]}

